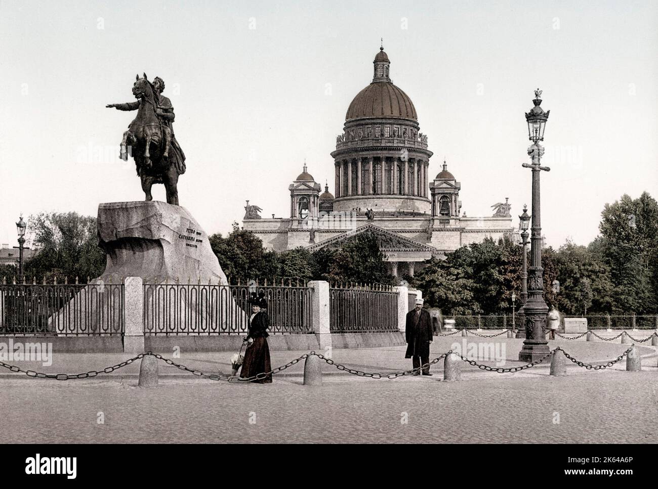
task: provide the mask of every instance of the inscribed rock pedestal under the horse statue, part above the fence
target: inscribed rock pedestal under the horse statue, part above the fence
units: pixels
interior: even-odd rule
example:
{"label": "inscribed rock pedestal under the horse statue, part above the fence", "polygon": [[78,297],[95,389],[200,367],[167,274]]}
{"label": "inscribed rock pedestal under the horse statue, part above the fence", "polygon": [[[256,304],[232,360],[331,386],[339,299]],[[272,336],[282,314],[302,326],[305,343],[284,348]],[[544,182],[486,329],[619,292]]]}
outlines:
{"label": "inscribed rock pedestal under the horse statue, part above the fence", "polygon": [[228,285],[208,235],[182,206],[157,200],[100,204],[97,228],[99,246],[107,252],[98,280]]}

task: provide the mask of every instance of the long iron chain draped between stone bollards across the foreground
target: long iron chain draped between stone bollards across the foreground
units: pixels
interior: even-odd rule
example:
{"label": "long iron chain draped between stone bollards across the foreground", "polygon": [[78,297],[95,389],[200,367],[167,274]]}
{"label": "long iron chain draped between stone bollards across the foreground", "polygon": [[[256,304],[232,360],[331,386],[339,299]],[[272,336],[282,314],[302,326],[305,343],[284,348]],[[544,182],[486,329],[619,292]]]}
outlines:
{"label": "long iron chain draped between stone bollards across the foreground", "polygon": [[[651,335],[653,336],[653,335]],[[649,337],[651,338],[651,337]],[[647,339],[649,339],[647,338]],[[509,368],[501,368],[501,367],[490,367],[489,365],[484,365],[482,363],[478,363],[477,361],[474,360],[468,360],[465,356],[462,356],[461,354],[456,354],[453,352],[453,350],[448,350],[444,354],[434,358],[434,360],[430,360],[427,363],[423,363],[420,365],[420,367],[416,367],[410,370],[401,370],[401,371],[395,371],[395,372],[389,372],[389,373],[382,373],[382,372],[365,372],[362,370],[357,370],[357,369],[351,369],[347,367],[346,365],[343,365],[342,363],[336,363],[334,360],[327,358],[326,356],[316,353],[315,351],[311,351],[309,353],[305,353],[302,356],[299,356],[295,358],[294,360],[289,361],[285,365],[281,365],[280,367],[276,367],[275,369],[272,369],[268,372],[261,372],[257,375],[253,375],[251,377],[238,377],[237,375],[218,375],[218,374],[209,374],[205,373],[199,369],[191,369],[190,367],[186,367],[186,365],[182,365],[181,363],[176,363],[175,361],[171,360],[170,358],[164,358],[162,355],[159,354],[154,354],[153,352],[145,352],[145,353],[140,353],[138,356],[134,358],[130,358],[128,360],[124,360],[121,363],[117,363],[116,365],[113,365],[111,367],[105,367],[105,369],[101,371],[97,370],[91,370],[85,373],[78,373],[78,374],[68,374],[68,373],[57,373],[57,374],[48,374],[48,373],[41,373],[41,372],[36,372],[34,370],[23,370],[20,367],[16,367],[16,365],[9,365],[9,363],[4,363],[3,361],[0,361],[0,367],[5,367],[6,369],[9,369],[9,371],[12,372],[20,372],[24,373],[28,377],[34,377],[37,379],[56,379],[58,381],[68,381],[71,379],[88,379],[91,377],[96,377],[97,375],[101,373],[111,373],[114,370],[120,369],[122,367],[125,367],[126,365],[130,365],[130,363],[134,362],[135,360],[140,360],[141,358],[144,358],[145,356],[153,356],[157,358],[157,360],[162,360],[164,363],[167,365],[172,365],[180,370],[188,371],[192,375],[196,375],[197,377],[204,377],[205,379],[210,379],[211,381],[228,381],[229,383],[239,383],[239,382],[251,382],[251,381],[256,381],[256,380],[261,380],[265,379],[266,377],[273,375],[274,373],[278,373],[281,371],[286,370],[287,368],[291,367],[292,365],[295,365],[295,363],[298,363],[300,360],[305,360],[306,358],[309,358],[309,356],[316,356],[320,358],[320,360],[326,361],[329,365],[334,365],[338,370],[345,371],[347,373],[350,373],[352,375],[357,375],[358,377],[368,377],[370,379],[397,379],[398,377],[403,377],[404,375],[416,375],[420,374],[421,370],[424,369],[429,369],[431,365],[434,365],[434,363],[438,363],[438,361],[443,360],[447,356],[451,354],[455,354],[455,356],[461,358],[461,360],[467,362],[470,365],[473,365],[474,367],[478,367],[480,370],[486,370],[488,372],[496,372],[496,373],[513,373],[513,372],[519,372],[522,370],[529,369],[531,367],[534,367],[535,365],[538,365],[539,363],[542,363],[544,360],[547,360],[550,356],[552,356],[555,352],[558,350],[563,352],[565,354],[566,358],[569,358],[573,363],[576,363],[579,367],[584,367],[588,370],[601,370],[601,369],[606,369],[607,367],[612,367],[617,363],[618,361],[622,360],[625,356],[628,355],[628,353],[632,350],[633,346],[628,348],[625,352],[623,352],[619,357],[617,357],[615,360],[608,361],[607,363],[604,363],[602,365],[591,365],[589,363],[584,363],[580,360],[577,360],[576,358],[570,356],[563,348],[557,346],[554,350],[551,350],[549,353],[547,353],[544,357],[540,358],[539,360],[532,361],[531,363],[526,363],[526,365],[521,365],[519,367],[509,367]]]}

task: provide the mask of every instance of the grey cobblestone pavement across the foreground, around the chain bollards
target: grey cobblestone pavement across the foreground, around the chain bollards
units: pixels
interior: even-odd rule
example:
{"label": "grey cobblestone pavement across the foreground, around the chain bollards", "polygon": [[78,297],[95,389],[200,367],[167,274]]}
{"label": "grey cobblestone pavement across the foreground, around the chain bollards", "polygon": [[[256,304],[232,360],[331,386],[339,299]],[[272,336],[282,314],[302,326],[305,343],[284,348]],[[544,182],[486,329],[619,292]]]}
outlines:
{"label": "grey cobblestone pavement across the foreground, around the chain bollards", "polygon": [[[444,352],[455,340],[461,342],[437,338],[432,354]],[[477,341],[491,340],[496,338]],[[506,345],[507,358],[517,358],[521,340],[499,341]],[[608,360],[626,349],[605,342],[575,343],[549,345],[563,346],[584,361]],[[296,353],[272,352],[272,365]],[[172,375],[168,371],[180,371],[161,363],[161,385],[149,390],[137,388],[131,375],[67,382],[3,377],[0,441],[657,443],[655,348],[642,347],[640,353],[647,365],[642,372],[624,371],[624,361],[608,371],[572,365],[567,377],[550,377],[547,365],[496,374],[463,363],[464,381],[456,383],[442,381],[440,365],[432,377],[396,380],[363,379],[325,365],[327,373],[334,373],[318,387],[301,385],[302,365],[290,369],[290,375],[276,375],[272,384],[228,384]],[[411,363],[401,346],[332,354],[336,361],[370,371],[407,369]],[[114,363],[106,357],[56,356],[48,370],[86,371],[88,365]],[[228,358],[228,353],[190,354],[180,360],[226,371]],[[83,368],[73,368],[76,364]],[[512,364],[520,363],[509,360]]]}

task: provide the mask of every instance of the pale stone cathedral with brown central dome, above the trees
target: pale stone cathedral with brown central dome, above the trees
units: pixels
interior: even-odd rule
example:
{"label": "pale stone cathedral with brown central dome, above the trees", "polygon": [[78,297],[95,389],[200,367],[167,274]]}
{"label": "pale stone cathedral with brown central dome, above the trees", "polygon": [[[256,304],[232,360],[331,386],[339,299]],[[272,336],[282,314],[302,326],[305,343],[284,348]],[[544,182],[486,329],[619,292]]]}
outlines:
{"label": "pale stone cathedral with brown central dome, above the trees", "polygon": [[[496,204],[492,217],[460,216],[461,183],[444,161],[430,177],[428,137],[420,132],[416,108],[393,85],[390,60],[380,48],[372,82],[347,108],[336,137],[334,192],[309,174],[306,164],[288,187],[290,218],[266,219],[247,201],[243,229],[268,249],[303,246],[340,248],[356,235],[374,235],[393,275],[413,275],[432,256],[460,246],[516,235],[510,204]],[[315,170],[314,170],[315,172]]]}

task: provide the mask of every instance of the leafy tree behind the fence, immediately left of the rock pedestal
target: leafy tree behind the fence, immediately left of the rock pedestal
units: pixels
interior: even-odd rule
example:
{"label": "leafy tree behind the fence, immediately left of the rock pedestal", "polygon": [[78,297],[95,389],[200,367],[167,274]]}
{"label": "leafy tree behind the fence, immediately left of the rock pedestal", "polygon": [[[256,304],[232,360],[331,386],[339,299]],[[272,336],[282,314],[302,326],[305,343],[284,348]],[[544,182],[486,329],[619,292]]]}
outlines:
{"label": "leafy tree behind the fence, immediately left of the rock pedestal", "polygon": [[25,264],[25,275],[47,281],[95,278],[105,269],[105,252],[98,246],[96,218],[77,212],[30,216],[32,243],[38,252]]}

